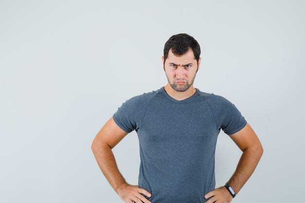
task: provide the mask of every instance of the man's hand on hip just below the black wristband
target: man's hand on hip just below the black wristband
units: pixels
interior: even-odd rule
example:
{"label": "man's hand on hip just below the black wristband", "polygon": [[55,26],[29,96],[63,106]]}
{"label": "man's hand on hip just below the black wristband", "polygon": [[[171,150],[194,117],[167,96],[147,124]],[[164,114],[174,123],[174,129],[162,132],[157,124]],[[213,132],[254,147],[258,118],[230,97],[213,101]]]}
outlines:
{"label": "man's hand on hip just below the black wristband", "polygon": [[[211,198],[210,198],[211,197]],[[205,195],[205,199],[210,198],[206,203],[230,203],[233,199],[228,189],[224,186],[216,188]]]}

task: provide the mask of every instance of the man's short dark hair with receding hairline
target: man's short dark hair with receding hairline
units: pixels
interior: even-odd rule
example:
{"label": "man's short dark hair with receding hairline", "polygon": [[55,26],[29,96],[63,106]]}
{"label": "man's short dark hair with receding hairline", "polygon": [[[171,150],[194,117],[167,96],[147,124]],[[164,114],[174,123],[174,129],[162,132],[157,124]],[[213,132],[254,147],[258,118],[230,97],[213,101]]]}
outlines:
{"label": "man's short dark hair with receding hairline", "polygon": [[181,33],[177,35],[173,35],[170,37],[167,42],[164,45],[164,63],[163,66],[165,65],[165,61],[168,57],[170,49],[172,49],[172,53],[174,55],[184,55],[189,51],[189,49],[194,53],[195,59],[197,60],[197,66],[198,66],[198,61],[200,57],[200,46],[196,39],[194,37],[189,36],[186,33]]}

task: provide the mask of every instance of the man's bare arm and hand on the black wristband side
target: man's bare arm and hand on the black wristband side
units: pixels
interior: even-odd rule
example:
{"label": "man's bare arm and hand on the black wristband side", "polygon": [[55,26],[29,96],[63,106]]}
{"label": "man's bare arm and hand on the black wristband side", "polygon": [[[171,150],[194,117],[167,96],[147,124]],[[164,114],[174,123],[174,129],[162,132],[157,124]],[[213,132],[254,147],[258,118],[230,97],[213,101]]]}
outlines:
{"label": "man's bare arm and hand on the black wristband side", "polygon": [[[227,182],[227,184],[230,185],[237,194],[248,181],[261,159],[263,155],[263,147],[254,130],[248,123],[243,129],[229,135],[229,137],[243,151],[234,174]],[[210,198],[207,203],[213,203],[215,201],[217,201],[217,203],[229,203],[232,200],[232,196],[224,186],[210,191],[205,195],[205,198]]]}

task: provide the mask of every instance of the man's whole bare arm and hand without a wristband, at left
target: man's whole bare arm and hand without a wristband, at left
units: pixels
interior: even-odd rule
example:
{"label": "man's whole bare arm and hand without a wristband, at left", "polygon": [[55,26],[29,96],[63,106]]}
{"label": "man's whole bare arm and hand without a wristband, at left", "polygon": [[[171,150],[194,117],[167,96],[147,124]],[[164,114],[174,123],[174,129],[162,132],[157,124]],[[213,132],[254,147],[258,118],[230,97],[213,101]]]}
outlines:
{"label": "man's whole bare arm and hand without a wristband, at left", "polygon": [[111,117],[95,136],[91,149],[103,175],[125,203],[150,203],[150,193],[138,185],[129,185],[119,172],[112,149],[128,134]]}

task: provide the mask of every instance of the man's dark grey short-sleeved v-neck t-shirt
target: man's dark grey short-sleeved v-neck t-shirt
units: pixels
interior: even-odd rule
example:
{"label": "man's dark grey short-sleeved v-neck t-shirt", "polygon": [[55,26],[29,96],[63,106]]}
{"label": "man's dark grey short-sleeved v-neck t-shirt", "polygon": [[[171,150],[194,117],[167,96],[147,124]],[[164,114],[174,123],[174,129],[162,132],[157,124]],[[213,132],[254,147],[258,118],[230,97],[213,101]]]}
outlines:
{"label": "man's dark grey short-sleeved v-neck t-shirt", "polygon": [[125,101],[113,115],[124,131],[136,131],[140,148],[138,185],[152,203],[204,203],[215,188],[215,148],[220,129],[231,135],[247,121],[226,98],[196,92],[184,100],[164,90]]}

